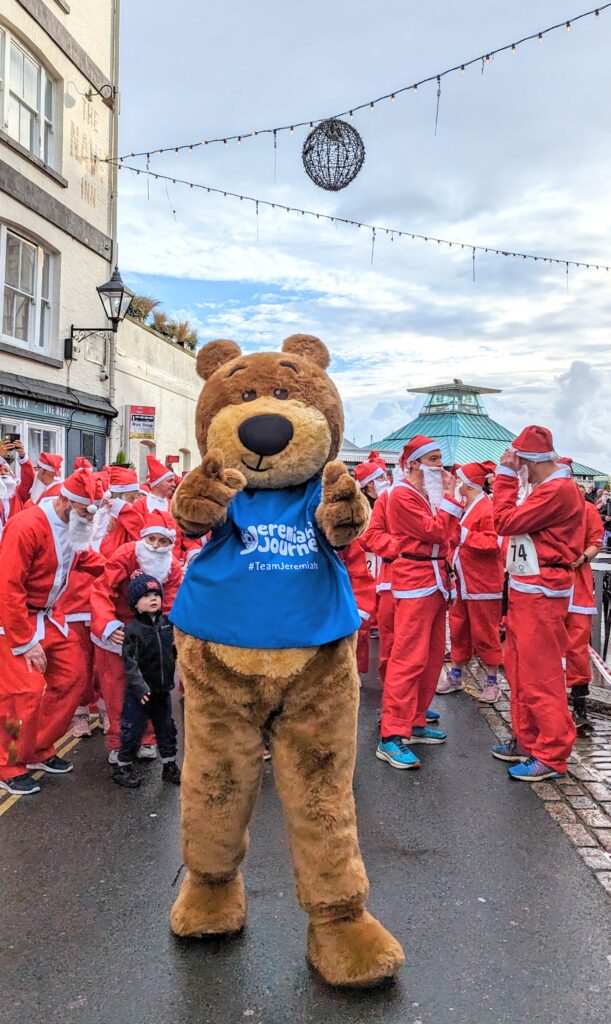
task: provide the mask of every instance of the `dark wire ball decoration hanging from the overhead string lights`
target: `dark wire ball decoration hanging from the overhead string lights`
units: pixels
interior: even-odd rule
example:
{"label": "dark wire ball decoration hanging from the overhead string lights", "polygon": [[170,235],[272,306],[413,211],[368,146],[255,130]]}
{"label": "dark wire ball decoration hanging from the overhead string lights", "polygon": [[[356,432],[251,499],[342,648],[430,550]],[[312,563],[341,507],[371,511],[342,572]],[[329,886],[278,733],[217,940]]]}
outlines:
{"label": "dark wire ball decoration hanging from the overhead string lights", "polygon": [[313,128],[303,143],[303,166],[319,188],[339,191],[360,171],[365,147],[362,138],[346,121],[330,118]]}

